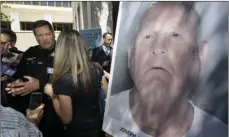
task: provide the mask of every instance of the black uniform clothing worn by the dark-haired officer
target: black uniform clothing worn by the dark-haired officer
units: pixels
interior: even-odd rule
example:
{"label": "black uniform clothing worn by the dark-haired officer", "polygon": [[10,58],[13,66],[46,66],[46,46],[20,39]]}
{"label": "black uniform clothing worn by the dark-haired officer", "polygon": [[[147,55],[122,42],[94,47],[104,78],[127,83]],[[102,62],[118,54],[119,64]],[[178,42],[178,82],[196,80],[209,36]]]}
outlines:
{"label": "black uniform clothing worn by the dark-haired officer", "polygon": [[[31,76],[39,79],[40,89],[34,92],[43,93],[43,103],[45,104],[43,119],[40,123],[40,130],[44,137],[64,136],[64,126],[55,113],[51,99],[44,94],[44,86],[48,83],[51,75],[47,70],[53,68],[55,47],[42,49],[40,46],[29,48],[23,55],[14,77],[16,79],[23,76]],[[25,114],[29,107],[30,95],[25,97],[15,97],[14,108]],[[16,101],[16,102],[15,102]],[[16,104],[15,104],[16,103]]]}

